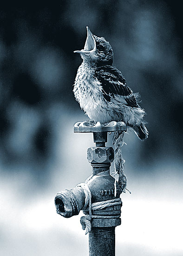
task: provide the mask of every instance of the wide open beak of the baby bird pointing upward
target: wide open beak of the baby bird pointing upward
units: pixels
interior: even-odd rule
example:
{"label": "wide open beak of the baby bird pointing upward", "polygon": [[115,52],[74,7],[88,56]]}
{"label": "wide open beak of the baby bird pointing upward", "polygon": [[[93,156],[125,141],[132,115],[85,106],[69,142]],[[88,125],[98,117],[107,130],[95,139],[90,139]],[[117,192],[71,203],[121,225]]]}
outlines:
{"label": "wide open beak of the baby bird pointing upward", "polygon": [[83,50],[80,51],[74,51],[74,53],[77,54],[91,54],[93,52],[96,52],[96,42],[95,39],[89,29],[89,27],[86,27],[87,29],[87,38],[85,42],[85,47]]}

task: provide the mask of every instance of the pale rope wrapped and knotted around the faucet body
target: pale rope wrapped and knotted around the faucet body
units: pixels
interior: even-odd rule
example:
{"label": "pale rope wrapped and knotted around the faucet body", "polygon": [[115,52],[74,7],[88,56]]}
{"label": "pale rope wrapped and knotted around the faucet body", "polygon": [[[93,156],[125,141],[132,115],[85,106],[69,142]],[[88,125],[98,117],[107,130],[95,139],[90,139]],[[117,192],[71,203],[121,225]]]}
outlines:
{"label": "pale rope wrapped and knotted around the faucet body", "polygon": [[77,187],[81,187],[85,193],[85,205],[82,208],[82,210],[89,212],[89,215],[86,214],[85,216],[82,216],[80,218],[82,229],[86,230],[85,235],[91,231],[91,219],[104,219],[104,218],[114,219],[114,218],[120,217],[120,215],[116,215],[116,216],[92,215],[92,210],[101,210],[114,205],[122,205],[121,198],[115,198],[115,199],[102,201],[102,202],[94,202],[91,204],[91,191],[88,185],[85,183],[80,183],[78,184]]}

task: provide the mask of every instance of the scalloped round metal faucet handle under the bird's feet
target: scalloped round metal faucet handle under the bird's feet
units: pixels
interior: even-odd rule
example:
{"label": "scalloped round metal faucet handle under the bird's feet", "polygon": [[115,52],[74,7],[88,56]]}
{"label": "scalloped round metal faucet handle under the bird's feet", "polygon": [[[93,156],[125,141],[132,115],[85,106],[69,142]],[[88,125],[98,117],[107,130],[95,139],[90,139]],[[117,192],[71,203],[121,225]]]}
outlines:
{"label": "scalloped round metal faucet handle under the bird's feet", "polygon": [[74,125],[75,133],[91,133],[91,132],[115,132],[126,131],[124,122],[111,121],[108,124],[94,123],[92,121],[77,122]]}

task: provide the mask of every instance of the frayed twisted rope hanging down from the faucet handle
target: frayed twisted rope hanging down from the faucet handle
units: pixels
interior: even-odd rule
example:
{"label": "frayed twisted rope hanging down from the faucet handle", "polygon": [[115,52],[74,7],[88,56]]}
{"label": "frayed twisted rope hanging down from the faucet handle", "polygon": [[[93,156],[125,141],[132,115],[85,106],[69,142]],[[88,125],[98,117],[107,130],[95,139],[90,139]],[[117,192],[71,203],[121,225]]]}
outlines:
{"label": "frayed twisted rope hanging down from the faucet handle", "polygon": [[127,178],[126,178],[126,175],[124,174],[125,160],[123,159],[123,156],[121,154],[121,147],[125,144],[123,137],[124,137],[124,132],[114,132],[114,135],[112,138],[112,144],[114,147],[114,172],[112,173],[112,175],[115,178],[115,182],[114,182],[115,196],[117,193],[116,182],[118,182],[119,187],[124,193],[125,193],[126,184],[127,184]]}

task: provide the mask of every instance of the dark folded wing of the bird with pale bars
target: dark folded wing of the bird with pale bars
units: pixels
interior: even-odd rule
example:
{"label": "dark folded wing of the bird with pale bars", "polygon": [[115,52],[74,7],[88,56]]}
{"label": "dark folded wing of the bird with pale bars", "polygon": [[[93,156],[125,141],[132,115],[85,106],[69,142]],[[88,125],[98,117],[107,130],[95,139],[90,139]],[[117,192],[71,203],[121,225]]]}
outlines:
{"label": "dark folded wing of the bird with pale bars", "polygon": [[138,107],[131,88],[127,86],[123,75],[116,67],[108,65],[98,67],[95,70],[95,75],[101,83],[106,101],[111,101],[111,97],[119,95],[124,104],[131,107]]}

